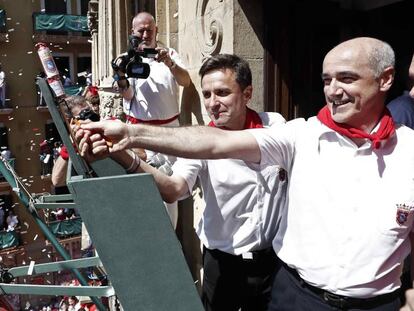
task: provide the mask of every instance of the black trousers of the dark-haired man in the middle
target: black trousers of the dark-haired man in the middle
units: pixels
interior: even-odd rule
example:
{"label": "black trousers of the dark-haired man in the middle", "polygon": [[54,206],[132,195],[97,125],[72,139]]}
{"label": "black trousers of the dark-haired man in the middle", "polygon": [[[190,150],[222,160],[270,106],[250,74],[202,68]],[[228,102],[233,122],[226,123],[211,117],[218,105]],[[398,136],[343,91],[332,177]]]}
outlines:
{"label": "black trousers of the dark-haired man in the middle", "polygon": [[264,311],[278,263],[272,248],[243,259],[204,247],[203,295],[206,311]]}

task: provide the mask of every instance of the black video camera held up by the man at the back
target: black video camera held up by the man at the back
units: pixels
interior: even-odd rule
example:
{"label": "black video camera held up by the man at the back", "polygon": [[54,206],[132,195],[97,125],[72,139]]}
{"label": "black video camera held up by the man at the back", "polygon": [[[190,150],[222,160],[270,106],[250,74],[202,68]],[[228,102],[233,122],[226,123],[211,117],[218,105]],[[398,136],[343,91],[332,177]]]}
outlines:
{"label": "black video camera held up by the man at the back", "polygon": [[124,72],[128,78],[148,78],[150,67],[147,63],[142,62],[142,58],[155,58],[157,50],[144,48],[142,51],[136,51],[141,42],[141,38],[130,35],[128,52],[112,60],[113,70]]}

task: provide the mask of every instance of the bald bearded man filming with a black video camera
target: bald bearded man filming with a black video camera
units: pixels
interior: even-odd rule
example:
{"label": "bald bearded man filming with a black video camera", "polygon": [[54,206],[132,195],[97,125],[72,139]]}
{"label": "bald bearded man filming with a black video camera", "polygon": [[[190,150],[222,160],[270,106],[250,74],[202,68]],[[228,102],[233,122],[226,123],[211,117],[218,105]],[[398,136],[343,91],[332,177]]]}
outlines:
{"label": "bald bearded man filming with a black video camera", "polygon": [[[178,85],[189,86],[190,75],[178,53],[172,48],[158,46],[156,37],[154,17],[147,12],[138,13],[132,20],[130,51],[121,54],[113,62],[114,78],[123,97],[127,123],[179,126]],[[146,54],[146,49],[155,49],[153,55]],[[126,75],[126,68],[131,64],[130,55],[134,51],[142,53],[140,61],[146,66],[143,71],[147,74],[149,71],[148,77],[144,75],[132,78],[129,74]],[[170,167],[175,162],[175,157],[147,151],[147,160],[151,165],[161,167],[165,173],[171,174]],[[177,203],[169,204],[167,210],[175,227]]]}

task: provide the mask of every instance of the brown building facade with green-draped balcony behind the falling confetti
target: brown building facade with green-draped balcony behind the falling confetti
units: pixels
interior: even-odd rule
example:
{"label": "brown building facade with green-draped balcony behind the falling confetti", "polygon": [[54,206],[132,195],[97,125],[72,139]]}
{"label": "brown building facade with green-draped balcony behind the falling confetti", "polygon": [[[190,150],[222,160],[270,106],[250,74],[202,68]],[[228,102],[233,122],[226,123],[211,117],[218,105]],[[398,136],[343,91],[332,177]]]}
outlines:
{"label": "brown building facade with green-draped balcony behind the falling confetti", "polygon": [[[88,2],[4,0],[0,3],[0,64],[5,73],[5,103],[0,109],[0,151],[11,152],[15,171],[30,193],[53,191],[50,181],[52,152],[58,140],[52,118],[35,84],[36,77],[43,71],[35,44],[44,42],[48,45],[61,76],[70,78],[73,88],[83,84],[84,78],[78,74],[91,66],[91,37],[86,19]],[[14,230],[16,243],[6,245],[7,240],[1,240],[2,265],[10,268],[28,265],[31,261],[58,260],[56,251],[4,179],[0,182],[0,198],[4,217],[13,210],[19,220]],[[46,222],[51,219],[49,214],[39,213]],[[8,235],[5,219],[0,225],[0,236]],[[80,256],[79,233],[60,238],[71,256]],[[17,282],[59,284],[70,278],[72,276],[65,273],[48,274],[20,278]],[[50,299],[21,295],[16,304],[20,303],[23,309],[27,301],[32,306],[42,306]]]}

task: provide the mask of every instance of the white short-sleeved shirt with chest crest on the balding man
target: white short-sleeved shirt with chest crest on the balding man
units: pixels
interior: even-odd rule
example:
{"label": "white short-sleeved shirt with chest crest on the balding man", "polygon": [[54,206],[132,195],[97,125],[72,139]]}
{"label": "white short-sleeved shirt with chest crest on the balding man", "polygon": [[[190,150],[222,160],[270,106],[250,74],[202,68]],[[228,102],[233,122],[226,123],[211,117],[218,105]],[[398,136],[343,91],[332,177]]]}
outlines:
{"label": "white short-sleeved shirt with chest crest on the balding man", "polygon": [[[286,232],[273,243],[278,256],[308,283],[336,294],[396,290],[410,251],[414,131],[397,127],[378,150],[369,141],[358,148],[316,117],[251,133],[261,167],[277,163],[289,175]],[[401,224],[399,204],[409,211]]]}

